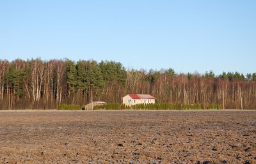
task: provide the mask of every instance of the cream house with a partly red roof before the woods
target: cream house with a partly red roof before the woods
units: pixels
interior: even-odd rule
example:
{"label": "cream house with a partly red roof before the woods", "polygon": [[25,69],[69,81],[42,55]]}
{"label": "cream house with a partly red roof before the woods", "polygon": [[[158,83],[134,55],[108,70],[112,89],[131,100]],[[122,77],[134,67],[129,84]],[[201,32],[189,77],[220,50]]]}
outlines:
{"label": "cream house with a partly red roof before the woods", "polygon": [[136,105],[140,103],[155,103],[156,98],[149,94],[127,94],[122,98],[122,102],[125,105]]}

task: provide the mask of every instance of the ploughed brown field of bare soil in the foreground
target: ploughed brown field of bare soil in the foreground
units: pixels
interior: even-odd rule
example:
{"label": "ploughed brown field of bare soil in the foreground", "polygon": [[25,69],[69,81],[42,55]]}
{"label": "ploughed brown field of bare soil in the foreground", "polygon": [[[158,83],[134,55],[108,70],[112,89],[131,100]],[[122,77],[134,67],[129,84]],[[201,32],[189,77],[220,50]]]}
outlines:
{"label": "ploughed brown field of bare soil in the foreground", "polygon": [[256,163],[256,110],[0,112],[0,163]]}

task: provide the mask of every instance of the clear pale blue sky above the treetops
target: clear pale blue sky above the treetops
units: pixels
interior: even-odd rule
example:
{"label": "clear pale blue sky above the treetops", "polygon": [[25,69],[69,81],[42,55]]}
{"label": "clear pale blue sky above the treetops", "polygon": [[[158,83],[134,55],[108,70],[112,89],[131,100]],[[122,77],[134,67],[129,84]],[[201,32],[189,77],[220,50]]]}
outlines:
{"label": "clear pale blue sky above the treetops", "polygon": [[0,59],[18,57],[256,72],[256,1],[0,1]]}

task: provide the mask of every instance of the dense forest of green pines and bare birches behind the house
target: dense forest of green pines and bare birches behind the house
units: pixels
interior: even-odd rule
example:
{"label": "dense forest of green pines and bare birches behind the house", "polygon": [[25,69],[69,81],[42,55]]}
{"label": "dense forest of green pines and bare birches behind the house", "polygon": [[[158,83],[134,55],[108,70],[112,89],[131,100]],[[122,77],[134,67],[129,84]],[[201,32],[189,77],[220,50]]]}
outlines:
{"label": "dense forest of green pines and bare birches behind the house", "polygon": [[158,103],[256,108],[256,73],[175,73],[126,70],[115,61],[0,60],[0,109],[52,109],[90,101],[121,103],[128,93],[151,94]]}

